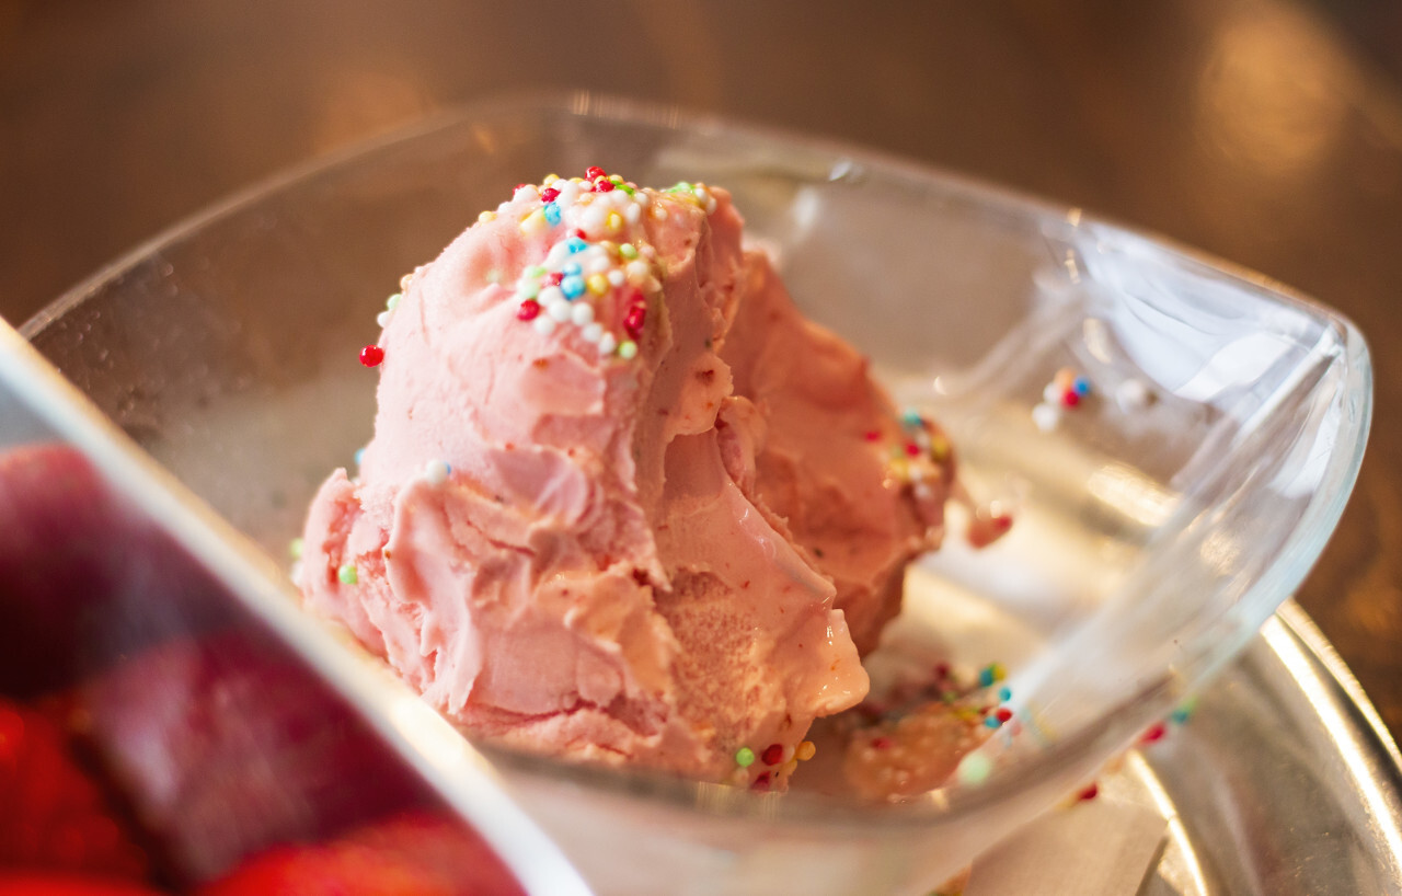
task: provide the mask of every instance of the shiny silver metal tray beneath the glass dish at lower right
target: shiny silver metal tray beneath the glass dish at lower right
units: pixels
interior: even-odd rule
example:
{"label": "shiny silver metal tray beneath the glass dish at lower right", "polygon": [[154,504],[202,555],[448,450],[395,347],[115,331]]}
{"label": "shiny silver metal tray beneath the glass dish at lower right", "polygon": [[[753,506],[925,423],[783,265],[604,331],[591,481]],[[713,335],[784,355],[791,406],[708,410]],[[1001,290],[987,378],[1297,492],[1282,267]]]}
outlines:
{"label": "shiny silver metal tray beneath the glass dish at lower right", "polygon": [[1402,893],[1402,757],[1294,602],[1143,759],[1175,820],[1140,896]]}

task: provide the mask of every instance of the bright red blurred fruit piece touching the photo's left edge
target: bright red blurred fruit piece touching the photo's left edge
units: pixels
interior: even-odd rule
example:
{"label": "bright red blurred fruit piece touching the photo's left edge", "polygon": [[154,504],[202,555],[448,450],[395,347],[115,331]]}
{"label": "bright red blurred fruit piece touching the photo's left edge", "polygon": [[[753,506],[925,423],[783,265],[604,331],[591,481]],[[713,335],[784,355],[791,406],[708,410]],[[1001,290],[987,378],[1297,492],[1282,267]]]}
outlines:
{"label": "bright red blurred fruit piece touching the photo's left edge", "polygon": [[43,715],[0,700],[0,869],[140,879],[146,855],[108,812]]}

